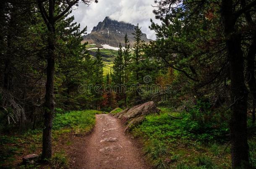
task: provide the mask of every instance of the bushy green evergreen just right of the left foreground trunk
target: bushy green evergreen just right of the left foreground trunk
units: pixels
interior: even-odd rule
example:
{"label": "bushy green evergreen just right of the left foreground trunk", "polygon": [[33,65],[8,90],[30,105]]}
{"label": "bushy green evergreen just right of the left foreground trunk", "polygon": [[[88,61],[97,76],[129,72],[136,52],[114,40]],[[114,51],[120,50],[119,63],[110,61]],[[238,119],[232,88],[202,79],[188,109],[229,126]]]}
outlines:
{"label": "bushy green evergreen just right of the left foreground trunk", "polygon": [[79,93],[77,89],[80,84],[85,81],[90,83],[93,79],[91,75],[94,62],[85,50],[86,44],[81,44],[81,34],[85,32],[86,28],[80,31],[80,25],[73,21],[74,17],[71,16],[58,23],[60,34],[58,50],[61,51],[61,57],[57,58],[55,68],[55,100],[57,107],[64,110],[88,108],[84,107],[86,106],[84,102],[88,101],[84,98],[88,97],[89,93],[86,91]]}

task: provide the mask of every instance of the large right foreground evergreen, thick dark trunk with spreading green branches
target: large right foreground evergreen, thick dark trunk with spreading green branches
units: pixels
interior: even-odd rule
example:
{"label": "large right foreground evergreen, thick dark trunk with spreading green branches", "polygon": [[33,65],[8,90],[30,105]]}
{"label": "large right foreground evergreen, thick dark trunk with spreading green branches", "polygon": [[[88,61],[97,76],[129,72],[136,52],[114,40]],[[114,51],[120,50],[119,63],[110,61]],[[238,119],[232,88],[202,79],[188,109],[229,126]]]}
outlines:
{"label": "large right foreground evergreen, thick dark trunk with spreading green branches", "polygon": [[[216,96],[214,90],[218,88],[218,95],[230,98],[232,168],[251,168],[247,166],[247,105],[248,89],[252,95],[256,93],[256,31],[251,31],[255,28],[256,1],[222,0],[214,7],[214,1],[155,3],[158,8],[154,13],[162,24],[152,23],[157,32],[157,40],[152,43],[154,56],[183,73],[189,86],[197,88],[197,95],[204,88],[201,96]],[[247,80],[246,72],[250,74]]]}

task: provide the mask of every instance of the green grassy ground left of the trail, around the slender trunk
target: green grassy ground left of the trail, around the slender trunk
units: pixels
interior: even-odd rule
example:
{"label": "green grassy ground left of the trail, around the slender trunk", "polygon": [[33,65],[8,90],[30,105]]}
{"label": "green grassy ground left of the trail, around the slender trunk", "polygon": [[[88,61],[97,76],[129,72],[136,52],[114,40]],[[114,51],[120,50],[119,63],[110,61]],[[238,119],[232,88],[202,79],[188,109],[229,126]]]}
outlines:
{"label": "green grassy ground left of the trail, around the slender trunk", "polygon": [[[58,111],[57,111],[58,112]],[[71,132],[84,134],[93,129],[95,124],[95,114],[105,112],[97,110],[71,111],[55,114],[52,126],[52,145],[57,147],[69,146],[72,144],[68,140]],[[66,139],[66,143],[59,145],[60,139]],[[28,130],[24,134],[15,136],[0,136],[0,168],[16,168],[16,161],[22,156],[35,153],[39,154],[42,149],[42,129]],[[56,152],[51,159],[53,168],[67,168],[65,152]],[[32,167],[33,168],[33,167]]]}

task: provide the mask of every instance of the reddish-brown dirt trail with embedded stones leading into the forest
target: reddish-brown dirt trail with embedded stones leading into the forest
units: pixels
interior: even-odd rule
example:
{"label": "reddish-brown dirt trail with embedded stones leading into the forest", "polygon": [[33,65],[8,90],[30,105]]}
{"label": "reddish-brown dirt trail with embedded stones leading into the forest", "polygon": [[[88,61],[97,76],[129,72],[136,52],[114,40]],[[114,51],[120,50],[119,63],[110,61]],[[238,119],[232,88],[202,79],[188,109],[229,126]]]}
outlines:
{"label": "reddish-brown dirt trail with embedded stones leading into the forest", "polygon": [[109,114],[96,115],[94,131],[86,139],[79,169],[147,169],[141,150],[123,133],[120,121]]}

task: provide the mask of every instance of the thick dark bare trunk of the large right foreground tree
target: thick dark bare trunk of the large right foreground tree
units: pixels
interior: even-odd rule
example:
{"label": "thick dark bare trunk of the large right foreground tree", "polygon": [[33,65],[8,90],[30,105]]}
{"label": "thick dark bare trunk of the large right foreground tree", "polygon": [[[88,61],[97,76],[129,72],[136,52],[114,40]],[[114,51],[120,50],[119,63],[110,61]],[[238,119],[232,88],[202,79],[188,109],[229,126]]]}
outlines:
{"label": "thick dark bare trunk of the large right foreground tree", "polygon": [[231,80],[230,139],[232,168],[238,168],[249,161],[247,142],[247,98],[245,86],[241,34],[235,29],[232,0],[222,0],[221,16],[227,46]]}

